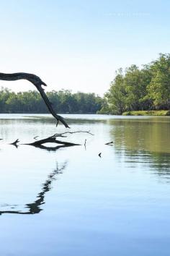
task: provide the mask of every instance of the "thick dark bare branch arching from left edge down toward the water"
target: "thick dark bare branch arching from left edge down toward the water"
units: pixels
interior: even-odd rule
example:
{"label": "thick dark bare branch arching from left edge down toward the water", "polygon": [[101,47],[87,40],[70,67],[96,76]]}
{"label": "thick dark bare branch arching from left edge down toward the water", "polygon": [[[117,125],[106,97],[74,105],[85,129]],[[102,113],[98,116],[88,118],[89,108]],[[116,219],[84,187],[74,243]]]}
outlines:
{"label": "thick dark bare branch arching from left edge down toward the water", "polygon": [[[50,114],[52,114],[57,121],[61,121],[61,123],[66,127],[68,127],[68,124],[66,121],[63,119],[62,116],[59,116],[58,114],[55,114],[55,111],[53,110],[52,104],[50,103],[48,96],[45,94],[44,89],[42,88],[42,85],[47,86],[45,82],[42,82],[40,77],[37,77],[35,74],[29,74],[29,73],[13,73],[13,74],[4,74],[0,73],[0,80],[5,80],[5,81],[15,81],[15,80],[28,80],[32,82],[33,85],[37,88],[39,91],[42,99],[44,100],[46,106],[48,107],[48,110],[50,111]],[[58,125],[58,122],[57,122]]]}

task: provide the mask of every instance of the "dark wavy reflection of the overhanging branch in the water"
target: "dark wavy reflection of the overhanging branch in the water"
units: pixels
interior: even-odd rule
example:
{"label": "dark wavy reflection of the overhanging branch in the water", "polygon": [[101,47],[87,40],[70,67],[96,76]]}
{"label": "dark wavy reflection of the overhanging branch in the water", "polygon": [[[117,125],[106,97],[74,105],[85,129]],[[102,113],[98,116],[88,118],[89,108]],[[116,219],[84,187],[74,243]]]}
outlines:
{"label": "dark wavy reflection of the overhanging branch in the water", "polygon": [[[66,168],[67,162],[61,164],[61,166],[56,163],[56,168],[55,170],[48,175],[48,179],[42,184],[42,189],[41,191],[37,194],[37,200],[32,203],[26,203],[24,205],[24,208],[27,208],[27,210],[22,211],[22,210],[0,210],[0,215],[3,213],[13,213],[13,214],[35,214],[35,213],[40,213],[42,208],[40,208],[41,205],[45,204],[45,195],[48,191],[51,189],[51,184],[55,179],[57,178],[58,174],[63,174],[63,170]],[[8,207],[11,209],[16,209],[18,208],[19,205],[8,205],[4,204],[1,205],[1,207]]]}

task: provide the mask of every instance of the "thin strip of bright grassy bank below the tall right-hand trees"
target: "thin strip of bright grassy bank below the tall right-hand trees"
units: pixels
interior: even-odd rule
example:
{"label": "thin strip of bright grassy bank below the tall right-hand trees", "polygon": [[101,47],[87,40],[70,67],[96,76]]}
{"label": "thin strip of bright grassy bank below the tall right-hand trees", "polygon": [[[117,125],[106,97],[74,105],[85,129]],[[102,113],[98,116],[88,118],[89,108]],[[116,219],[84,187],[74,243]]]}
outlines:
{"label": "thin strip of bright grassy bank below the tall right-hand trees", "polygon": [[169,110],[153,110],[153,111],[127,111],[123,116],[170,116]]}

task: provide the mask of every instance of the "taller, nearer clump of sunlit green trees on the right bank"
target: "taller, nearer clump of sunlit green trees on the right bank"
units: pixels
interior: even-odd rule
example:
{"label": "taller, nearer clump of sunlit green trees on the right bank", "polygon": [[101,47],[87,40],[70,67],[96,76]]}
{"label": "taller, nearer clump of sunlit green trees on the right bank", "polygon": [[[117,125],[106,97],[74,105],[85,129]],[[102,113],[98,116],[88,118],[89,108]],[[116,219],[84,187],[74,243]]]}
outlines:
{"label": "taller, nearer clump of sunlit green trees on the right bank", "polygon": [[99,113],[170,109],[170,54],[139,69],[132,65],[117,71]]}

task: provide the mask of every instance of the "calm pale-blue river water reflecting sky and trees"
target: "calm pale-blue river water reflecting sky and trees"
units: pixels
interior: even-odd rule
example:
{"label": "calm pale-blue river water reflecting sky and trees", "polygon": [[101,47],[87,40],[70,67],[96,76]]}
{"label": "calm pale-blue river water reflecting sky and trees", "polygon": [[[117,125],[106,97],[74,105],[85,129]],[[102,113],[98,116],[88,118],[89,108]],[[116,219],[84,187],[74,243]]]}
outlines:
{"label": "calm pale-blue river water reflecting sky and trees", "polygon": [[0,255],[169,256],[170,118],[66,117],[94,136],[49,151],[9,143],[65,132],[50,115],[0,115]]}

